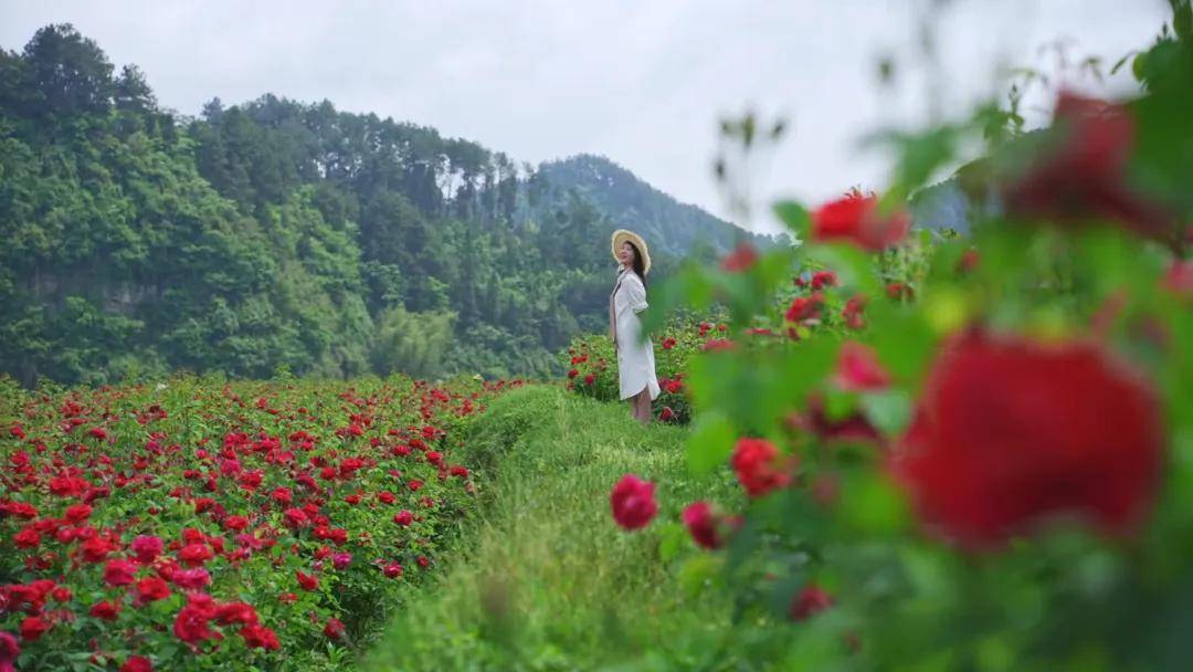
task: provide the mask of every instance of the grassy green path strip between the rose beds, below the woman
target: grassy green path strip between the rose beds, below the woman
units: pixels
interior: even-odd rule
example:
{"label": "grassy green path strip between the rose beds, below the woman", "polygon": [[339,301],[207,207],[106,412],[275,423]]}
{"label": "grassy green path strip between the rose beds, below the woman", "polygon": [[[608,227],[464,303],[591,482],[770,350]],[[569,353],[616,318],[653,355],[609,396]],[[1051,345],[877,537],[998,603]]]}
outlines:
{"label": "grassy green path strip between the rose beds, below the woman", "polygon": [[[496,400],[465,442],[484,501],[439,582],[420,588],[364,667],[718,666],[733,605],[716,586],[684,580],[682,559],[700,556],[678,524],[694,499],[740,495],[725,470],[688,475],[685,436],[556,387]],[[657,483],[659,517],[643,531],[623,531],[610,513],[625,473]],[[682,545],[679,560],[660,554],[668,537]]]}

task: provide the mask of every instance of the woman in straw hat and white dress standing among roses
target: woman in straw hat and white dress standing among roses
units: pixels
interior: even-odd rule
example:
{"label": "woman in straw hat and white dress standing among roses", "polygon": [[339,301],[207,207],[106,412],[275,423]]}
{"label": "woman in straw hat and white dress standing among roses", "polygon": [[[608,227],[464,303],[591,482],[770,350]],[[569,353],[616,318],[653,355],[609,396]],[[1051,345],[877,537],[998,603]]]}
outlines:
{"label": "woman in straw hat and white dress standing among roses", "polygon": [[655,346],[648,337],[639,343],[642,322],[638,313],[647,309],[647,273],[650,253],[647,241],[625,229],[613,232],[613,258],[620,264],[613,294],[608,297],[608,331],[617,347],[617,375],[622,399],[630,400],[630,413],[642,424],[654,418],[650,402],[659,396],[655,376]]}

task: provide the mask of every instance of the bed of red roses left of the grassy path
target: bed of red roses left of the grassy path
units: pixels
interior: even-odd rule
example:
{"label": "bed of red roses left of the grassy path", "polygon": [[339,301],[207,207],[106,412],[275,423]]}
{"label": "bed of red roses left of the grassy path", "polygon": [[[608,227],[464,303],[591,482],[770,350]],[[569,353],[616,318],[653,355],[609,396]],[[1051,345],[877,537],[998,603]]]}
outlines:
{"label": "bed of red roses left of the grassy path", "polygon": [[440,563],[475,492],[456,437],[503,387],[5,388],[5,646],[29,670],[334,666]]}

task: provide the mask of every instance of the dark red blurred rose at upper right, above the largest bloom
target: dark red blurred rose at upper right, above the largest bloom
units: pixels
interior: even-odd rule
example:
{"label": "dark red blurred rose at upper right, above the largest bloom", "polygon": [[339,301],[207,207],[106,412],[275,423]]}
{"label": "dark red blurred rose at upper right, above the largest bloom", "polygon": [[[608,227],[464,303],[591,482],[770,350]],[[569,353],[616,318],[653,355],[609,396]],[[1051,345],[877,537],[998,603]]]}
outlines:
{"label": "dark red blurred rose at upper right, above the largest bloom", "polygon": [[1059,224],[1113,220],[1141,233],[1168,232],[1168,214],[1127,186],[1135,119],[1125,107],[1062,91],[1052,131],[1055,142],[1007,191],[1012,214]]}

